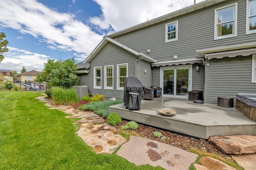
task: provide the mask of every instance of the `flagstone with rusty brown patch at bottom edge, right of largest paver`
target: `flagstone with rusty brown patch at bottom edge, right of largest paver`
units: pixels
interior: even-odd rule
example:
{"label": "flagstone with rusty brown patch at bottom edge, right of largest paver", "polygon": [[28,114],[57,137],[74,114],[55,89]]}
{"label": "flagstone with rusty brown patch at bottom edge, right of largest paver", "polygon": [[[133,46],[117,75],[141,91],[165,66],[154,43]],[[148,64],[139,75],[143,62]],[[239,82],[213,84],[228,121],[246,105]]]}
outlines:
{"label": "flagstone with rusty brown patch at bottom edge, right of largest paver", "polygon": [[194,164],[196,170],[236,170],[232,166],[209,156],[203,156],[199,161],[202,165]]}

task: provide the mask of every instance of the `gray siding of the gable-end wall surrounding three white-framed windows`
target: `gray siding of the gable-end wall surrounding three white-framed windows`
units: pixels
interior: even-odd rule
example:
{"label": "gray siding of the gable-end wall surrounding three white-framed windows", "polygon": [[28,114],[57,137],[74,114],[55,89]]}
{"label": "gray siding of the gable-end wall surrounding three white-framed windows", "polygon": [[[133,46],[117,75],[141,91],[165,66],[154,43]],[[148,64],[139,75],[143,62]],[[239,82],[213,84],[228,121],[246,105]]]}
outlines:
{"label": "gray siding of the gable-end wall surrounding three white-framed windows", "polygon": [[[104,94],[105,98],[123,98],[124,91],[117,90],[117,64],[128,63],[128,77],[135,76],[135,61],[137,56],[125,49],[108,42],[100,52],[90,61],[90,95]],[[113,90],[104,89],[104,66],[113,65]],[[94,89],[94,67],[101,66],[101,89]]]}

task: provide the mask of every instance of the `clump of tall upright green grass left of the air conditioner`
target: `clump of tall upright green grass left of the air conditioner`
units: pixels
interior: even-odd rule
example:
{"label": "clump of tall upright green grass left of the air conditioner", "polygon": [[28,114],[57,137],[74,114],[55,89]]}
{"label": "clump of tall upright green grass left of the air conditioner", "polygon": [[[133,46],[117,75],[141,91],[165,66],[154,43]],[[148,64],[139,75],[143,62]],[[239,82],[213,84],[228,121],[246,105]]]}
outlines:
{"label": "clump of tall upright green grass left of the air conditioner", "polygon": [[54,104],[73,106],[79,101],[74,88],[52,87],[51,92]]}

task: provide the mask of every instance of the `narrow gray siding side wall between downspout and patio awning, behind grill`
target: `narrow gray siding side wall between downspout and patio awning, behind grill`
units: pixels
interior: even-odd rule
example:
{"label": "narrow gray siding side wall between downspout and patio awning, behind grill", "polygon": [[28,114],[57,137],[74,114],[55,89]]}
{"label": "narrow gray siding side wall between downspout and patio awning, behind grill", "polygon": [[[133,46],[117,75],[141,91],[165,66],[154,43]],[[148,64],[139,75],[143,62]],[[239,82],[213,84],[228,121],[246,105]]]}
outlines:
{"label": "narrow gray siding side wall between downspout and patio awning, behind grill", "polygon": [[[145,69],[146,73],[144,73]],[[144,60],[138,61],[137,78],[140,80],[143,86],[150,87],[152,85],[152,68],[150,63]]]}

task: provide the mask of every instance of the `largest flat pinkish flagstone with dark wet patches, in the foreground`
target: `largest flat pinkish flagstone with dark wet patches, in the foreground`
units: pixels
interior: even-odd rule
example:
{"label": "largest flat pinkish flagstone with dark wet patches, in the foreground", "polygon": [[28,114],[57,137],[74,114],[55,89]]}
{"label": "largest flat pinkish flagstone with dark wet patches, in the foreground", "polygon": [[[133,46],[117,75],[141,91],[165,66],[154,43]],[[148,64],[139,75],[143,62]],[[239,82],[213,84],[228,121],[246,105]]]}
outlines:
{"label": "largest flat pinkish flagstone with dark wet patches, in the foreground", "polygon": [[136,165],[150,164],[167,170],[188,170],[198,156],[165,143],[135,136],[130,136],[130,140],[116,154]]}

